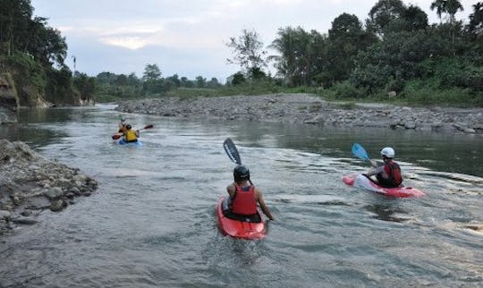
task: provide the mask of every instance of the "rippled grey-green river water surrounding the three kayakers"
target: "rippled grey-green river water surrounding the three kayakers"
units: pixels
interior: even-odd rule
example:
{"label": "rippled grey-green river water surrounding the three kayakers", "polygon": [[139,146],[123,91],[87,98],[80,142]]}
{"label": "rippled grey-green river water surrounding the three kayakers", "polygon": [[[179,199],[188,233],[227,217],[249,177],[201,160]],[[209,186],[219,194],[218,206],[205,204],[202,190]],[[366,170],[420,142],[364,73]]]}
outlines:
{"label": "rippled grey-green river water surrounding the three kayakers", "polygon": [[[0,126],[99,187],[0,240],[0,287],[476,287],[483,284],[483,137],[192,122],[127,114],[142,148],[115,145],[114,106],[22,111]],[[126,114],[124,114],[126,115]],[[4,136],[6,135],[6,136]],[[267,238],[216,227],[232,181],[231,137],[275,215]],[[393,146],[420,199],[345,186]]]}

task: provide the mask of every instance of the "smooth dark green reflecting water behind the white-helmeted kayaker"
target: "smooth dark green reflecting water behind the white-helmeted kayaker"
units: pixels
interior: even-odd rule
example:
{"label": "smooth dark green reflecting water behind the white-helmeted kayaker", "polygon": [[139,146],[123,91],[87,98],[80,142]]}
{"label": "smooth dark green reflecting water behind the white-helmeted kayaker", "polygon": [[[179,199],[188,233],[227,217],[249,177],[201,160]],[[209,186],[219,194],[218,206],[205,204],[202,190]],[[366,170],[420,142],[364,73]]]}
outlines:
{"label": "smooth dark green reflecting water behind the white-helmeted kayaker", "polygon": [[483,177],[481,135],[256,122],[234,124],[231,131],[237,141],[250,147],[293,148],[328,157],[352,157],[351,147],[357,142],[369,157],[378,159],[380,149],[391,146],[399,161]]}

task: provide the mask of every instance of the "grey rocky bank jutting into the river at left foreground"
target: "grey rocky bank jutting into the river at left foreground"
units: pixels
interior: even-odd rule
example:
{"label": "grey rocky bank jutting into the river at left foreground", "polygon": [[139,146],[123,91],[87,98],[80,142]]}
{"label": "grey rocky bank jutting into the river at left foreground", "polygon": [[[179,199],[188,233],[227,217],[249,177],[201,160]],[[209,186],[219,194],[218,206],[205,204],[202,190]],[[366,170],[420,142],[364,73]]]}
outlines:
{"label": "grey rocky bank jutting into the river at left foreground", "polygon": [[35,224],[41,211],[61,211],[97,182],[79,169],[48,160],[22,142],[0,140],[0,236]]}

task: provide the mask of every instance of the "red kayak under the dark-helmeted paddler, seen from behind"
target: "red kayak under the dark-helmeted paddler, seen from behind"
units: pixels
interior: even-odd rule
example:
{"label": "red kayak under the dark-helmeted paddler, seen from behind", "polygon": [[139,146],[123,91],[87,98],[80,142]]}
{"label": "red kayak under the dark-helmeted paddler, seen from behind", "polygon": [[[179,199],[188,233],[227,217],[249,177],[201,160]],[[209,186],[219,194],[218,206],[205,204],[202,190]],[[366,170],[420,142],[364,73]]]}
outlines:
{"label": "red kayak under the dark-helmeted paddler, seen from behind", "polygon": [[227,203],[226,201],[224,202],[224,199],[224,196],[220,197],[216,204],[218,227],[221,233],[232,236],[233,238],[249,240],[262,239],[267,235],[265,219],[259,211],[257,212],[257,219],[244,216],[238,216],[237,219],[234,219],[233,216],[229,218],[227,216],[230,215],[226,212],[224,213],[224,208],[225,210],[227,209]]}

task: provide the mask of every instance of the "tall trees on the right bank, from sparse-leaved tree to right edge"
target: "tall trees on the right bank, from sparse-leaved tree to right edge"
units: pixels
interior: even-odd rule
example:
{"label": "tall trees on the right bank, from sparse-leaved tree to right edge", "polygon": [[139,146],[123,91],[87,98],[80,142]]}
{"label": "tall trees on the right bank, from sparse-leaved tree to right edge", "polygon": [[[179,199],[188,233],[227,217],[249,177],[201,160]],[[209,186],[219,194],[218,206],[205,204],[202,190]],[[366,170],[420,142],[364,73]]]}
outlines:
{"label": "tall trees on the right bank, from sparse-leaved tree to right edge", "polygon": [[234,55],[227,62],[240,65],[242,80],[267,77],[272,63],[284,85],[331,89],[337,97],[457,89],[483,105],[483,3],[471,8],[464,24],[454,17],[463,9],[458,0],[436,0],[430,9],[440,22],[429,25],[417,5],[379,0],[365,24],[342,13],[324,34],[280,28],[268,46],[277,55],[267,55],[256,31],[242,30],[227,44]]}

